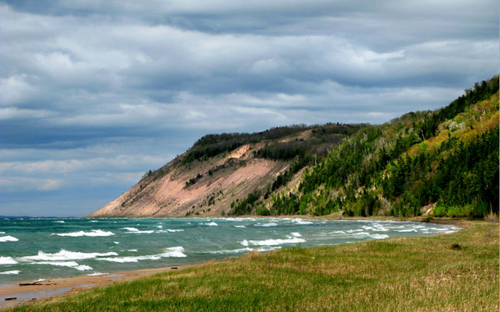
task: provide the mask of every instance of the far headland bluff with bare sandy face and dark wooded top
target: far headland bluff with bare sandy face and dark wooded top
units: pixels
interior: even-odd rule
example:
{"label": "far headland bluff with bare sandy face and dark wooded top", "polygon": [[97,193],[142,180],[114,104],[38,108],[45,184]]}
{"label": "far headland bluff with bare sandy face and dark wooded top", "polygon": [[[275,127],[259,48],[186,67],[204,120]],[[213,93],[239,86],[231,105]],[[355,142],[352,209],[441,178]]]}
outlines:
{"label": "far headland bluff with bare sandy face and dark wooded top", "polygon": [[208,134],[89,217],[220,216],[231,210],[232,201],[272,185],[290,166],[296,172],[366,126],[293,125]]}

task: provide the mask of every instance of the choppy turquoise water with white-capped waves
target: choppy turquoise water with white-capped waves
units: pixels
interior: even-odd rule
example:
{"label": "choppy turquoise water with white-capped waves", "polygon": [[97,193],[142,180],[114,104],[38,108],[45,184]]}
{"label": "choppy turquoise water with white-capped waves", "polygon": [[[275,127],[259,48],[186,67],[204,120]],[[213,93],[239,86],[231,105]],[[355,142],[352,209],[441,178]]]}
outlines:
{"label": "choppy turquoise water with white-capped waves", "polygon": [[295,218],[0,219],[0,283],[200,263],[254,248],[456,230],[430,223]]}

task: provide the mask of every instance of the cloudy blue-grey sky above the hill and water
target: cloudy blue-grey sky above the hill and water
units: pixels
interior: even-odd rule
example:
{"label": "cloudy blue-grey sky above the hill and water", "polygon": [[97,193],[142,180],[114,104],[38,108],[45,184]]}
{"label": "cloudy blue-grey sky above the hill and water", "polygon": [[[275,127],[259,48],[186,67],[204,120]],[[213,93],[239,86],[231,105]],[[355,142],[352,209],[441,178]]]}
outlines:
{"label": "cloudy blue-grey sky above the hill and water", "polygon": [[499,70],[497,0],[0,0],[0,215],[83,216],[207,133],[383,123]]}

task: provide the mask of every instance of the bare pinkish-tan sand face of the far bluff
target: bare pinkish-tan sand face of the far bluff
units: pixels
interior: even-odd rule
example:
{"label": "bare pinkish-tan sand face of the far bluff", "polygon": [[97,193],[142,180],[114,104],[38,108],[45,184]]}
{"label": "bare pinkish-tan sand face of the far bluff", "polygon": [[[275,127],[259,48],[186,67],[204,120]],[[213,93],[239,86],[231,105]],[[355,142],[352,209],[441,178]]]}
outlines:
{"label": "bare pinkish-tan sand face of the far bluff", "polygon": [[[211,163],[193,163],[192,169],[190,165],[189,169],[174,168],[146,186],[139,182],[89,216],[182,216],[187,211],[220,215],[222,210],[228,211],[233,199],[267,185],[287,167],[285,162],[253,158],[249,148],[248,144],[240,146]],[[208,170],[217,166],[223,169],[209,176]],[[198,173],[202,177],[187,186],[186,181]],[[209,203],[212,196],[214,202]]]}

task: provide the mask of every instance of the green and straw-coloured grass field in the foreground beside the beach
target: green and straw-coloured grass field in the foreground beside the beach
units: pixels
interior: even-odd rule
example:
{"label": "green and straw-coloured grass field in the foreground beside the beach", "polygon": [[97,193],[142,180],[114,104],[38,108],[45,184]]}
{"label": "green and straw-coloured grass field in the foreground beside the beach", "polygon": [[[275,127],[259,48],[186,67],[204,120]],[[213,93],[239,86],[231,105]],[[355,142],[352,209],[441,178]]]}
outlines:
{"label": "green and straw-coloured grass field in the foreground beside the beach", "polygon": [[13,311],[494,311],[498,224],[456,233],[249,252]]}

